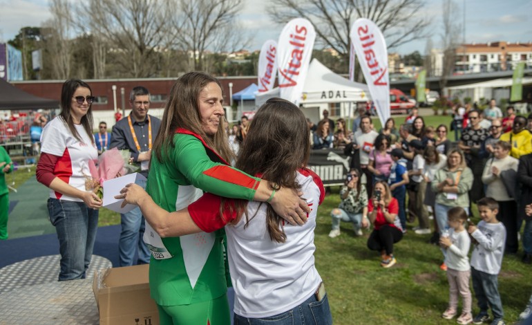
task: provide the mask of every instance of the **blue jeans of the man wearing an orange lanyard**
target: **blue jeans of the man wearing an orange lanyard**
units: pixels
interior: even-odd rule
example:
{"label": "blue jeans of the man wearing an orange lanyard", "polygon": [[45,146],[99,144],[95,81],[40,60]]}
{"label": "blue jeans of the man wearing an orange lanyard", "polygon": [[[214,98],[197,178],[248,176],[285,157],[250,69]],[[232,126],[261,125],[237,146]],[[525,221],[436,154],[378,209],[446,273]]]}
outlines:
{"label": "blue jeans of the man wearing an orange lanyard", "polygon": [[120,266],[132,266],[135,252],[138,247],[138,260],[135,264],[147,264],[150,262],[150,252],[142,240],[144,236],[144,216],[139,207],[130,212],[120,214],[120,241],[118,242],[118,252],[120,254]]}

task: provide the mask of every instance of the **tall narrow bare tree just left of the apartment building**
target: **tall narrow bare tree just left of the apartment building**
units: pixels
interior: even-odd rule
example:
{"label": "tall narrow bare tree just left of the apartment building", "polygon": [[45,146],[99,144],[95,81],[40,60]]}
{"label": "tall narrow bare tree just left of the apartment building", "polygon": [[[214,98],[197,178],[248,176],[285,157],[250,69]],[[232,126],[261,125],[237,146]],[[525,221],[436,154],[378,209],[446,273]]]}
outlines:
{"label": "tall narrow bare tree just left of the apartment building", "polygon": [[444,33],[441,35],[443,44],[444,59],[441,64],[441,76],[439,77],[439,88],[441,91],[447,86],[449,75],[453,73],[456,59],[456,49],[461,26],[457,24],[455,17],[459,12],[458,6],[453,0],[444,0],[444,8],[442,11],[442,18],[444,21]]}

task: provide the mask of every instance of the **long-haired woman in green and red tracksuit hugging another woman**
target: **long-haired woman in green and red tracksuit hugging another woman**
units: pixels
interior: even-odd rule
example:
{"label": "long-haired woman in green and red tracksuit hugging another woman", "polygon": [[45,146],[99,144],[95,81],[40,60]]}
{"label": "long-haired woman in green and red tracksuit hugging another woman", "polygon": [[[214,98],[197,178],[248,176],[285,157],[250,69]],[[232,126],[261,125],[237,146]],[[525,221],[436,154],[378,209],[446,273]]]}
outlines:
{"label": "long-haired woman in green and red tracksuit hugging another woman", "polygon": [[[310,210],[292,189],[274,191],[276,185],[227,165],[232,151],[222,101],[220,83],[205,73],[187,73],[175,82],[153,145],[147,192],[168,212],[187,207],[205,191],[267,201],[279,215],[301,223],[303,209]],[[230,323],[224,236],[221,231],[161,238],[146,224],[151,297],[161,324]]]}

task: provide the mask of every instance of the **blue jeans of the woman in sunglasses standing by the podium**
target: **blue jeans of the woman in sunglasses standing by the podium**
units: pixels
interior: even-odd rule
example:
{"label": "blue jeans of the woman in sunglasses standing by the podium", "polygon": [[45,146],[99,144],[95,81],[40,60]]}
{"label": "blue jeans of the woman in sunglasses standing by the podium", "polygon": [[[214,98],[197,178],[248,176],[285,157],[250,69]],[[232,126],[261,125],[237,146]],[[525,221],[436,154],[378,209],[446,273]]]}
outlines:
{"label": "blue jeans of the woman in sunglasses standing by the podium", "polygon": [[98,210],[83,202],[48,198],[48,213],[59,239],[59,281],[84,279],[93,256]]}

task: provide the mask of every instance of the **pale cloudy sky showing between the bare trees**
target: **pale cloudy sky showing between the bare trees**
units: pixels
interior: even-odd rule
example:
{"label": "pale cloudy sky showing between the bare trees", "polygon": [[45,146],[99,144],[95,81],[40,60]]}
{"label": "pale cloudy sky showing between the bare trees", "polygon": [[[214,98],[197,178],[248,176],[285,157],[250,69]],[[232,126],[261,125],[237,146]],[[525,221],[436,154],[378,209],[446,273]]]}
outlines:
{"label": "pale cloudy sky showing between the bare trees", "polygon": [[[466,18],[466,43],[486,43],[488,41],[532,41],[532,0],[454,0],[459,12],[456,13],[457,24],[464,21],[464,4]],[[251,44],[248,50],[259,50],[267,39],[278,39],[283,26],[275,24],[267,15],[263,0],[244,0],[240,12],[240,25],[243,26]],[[48,0],[0,0],[0,42],[8,41],[25,26],[40,26],[50,19]],[[418,15],[431,17],[428,28],[434,47],[441,41],[443,25],[441,15],[442,0],[426,0],[423,12]],[[398,17],[399,19],[399,17]],[[425,53],[427,39],[419,39],[388,52],[400,54],[419,50]]]}

